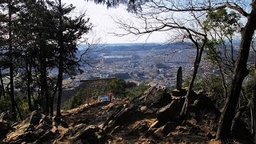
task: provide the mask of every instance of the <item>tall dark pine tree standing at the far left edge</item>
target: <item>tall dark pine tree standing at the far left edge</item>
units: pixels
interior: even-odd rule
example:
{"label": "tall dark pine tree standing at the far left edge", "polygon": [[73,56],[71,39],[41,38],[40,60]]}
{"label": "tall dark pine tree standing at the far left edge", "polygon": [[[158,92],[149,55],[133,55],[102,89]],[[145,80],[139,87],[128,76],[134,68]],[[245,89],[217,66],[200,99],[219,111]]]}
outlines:
{"label": "tall dark pine tree standing at the far left edge", "polygon": [[[14,120],[16,119],[17,111],[19,114],[19,117],[22,119],[22,114],[20,113],[18,109],[18,105],[15,102],[14,98],[14,70],[15,70],[15,61],[14,61],[14,53],[16,49],[16,43],[15,43],[15,35],[14,35],[14,22],[17,19],[14,17],[14,14],[17,14],[20,10],[21,1],[12,1],[12,0],[6,0],[1,1],[0,6],[2,7],[2,11],[4,14],[1,14],[0,17],[2,17],[2,48],[3,56],[4,56],[4,63],[5,66],[9,68],[9,78],[10,83],[8,84],[10,88],[7,86],[7,92],[10,95],[10,101],[11,101],[11,111]],[[7,36],[7,37],[6,37]],[[2,81],[2,78],[1,78]],[[3,84],[2,84],[3,85]]]}

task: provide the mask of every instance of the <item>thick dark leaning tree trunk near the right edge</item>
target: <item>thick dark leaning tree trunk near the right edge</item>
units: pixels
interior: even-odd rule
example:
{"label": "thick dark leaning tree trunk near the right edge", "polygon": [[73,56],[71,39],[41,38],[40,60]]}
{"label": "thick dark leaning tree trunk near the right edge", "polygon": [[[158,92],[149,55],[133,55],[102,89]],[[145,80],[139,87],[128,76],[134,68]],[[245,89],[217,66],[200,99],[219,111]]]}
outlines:
{"label": "thick dark leaning tree trunk near the right edge", "polygon": [[224,106],[222,116],[219,120],[218,131],[216,139],[230,139],[231,136],[231,125],[235,116],[235,110],[238,105],[239,94],[242,89],[242,82],[246,75],[249,74],[249,70],[246,68],[250,44],[256,29],[256,10],[253,8],[251,14],[248,16],[248,21],[242,32],[242,39],[240,44],[240,53],[234,69],[233,80],[230,86],[230,92],[226,98],[226,104]]}

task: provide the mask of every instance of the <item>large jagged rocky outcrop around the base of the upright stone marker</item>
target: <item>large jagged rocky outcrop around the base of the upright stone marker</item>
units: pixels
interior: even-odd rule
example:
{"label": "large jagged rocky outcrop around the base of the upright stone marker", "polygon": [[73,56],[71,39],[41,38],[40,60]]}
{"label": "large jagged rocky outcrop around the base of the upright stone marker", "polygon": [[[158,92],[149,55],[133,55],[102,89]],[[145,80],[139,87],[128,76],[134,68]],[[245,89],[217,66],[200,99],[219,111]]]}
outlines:
{"label": "large jagged rocky outcrop around the base of the upright stone marker", "polygon": [[[103,129],[108,134],[128,133],[156,139],[173,138],[173,134],[194,134],[200,140],[214,137],[210,137],[211,133],[204,129],[209,127],[209,130],[216,131],[220,113],[204,90],[193,91],[189,96],[186,118],[193,121],[184,122],[184,119],[180,118],[179,114],[185,100],[182,94],[186,94],[186,91],[176,90],[177,93],[173,92],[176,94],[174,95],[167,93],[166,90],[151,87],[142,96],[134,98],[129,105],[111,115]],[[209,114],[210,118],[207,119]],[[156,118],[157,121],[145,121],[149,118]],[[202,121],[203,118],[207,121]],[[199,124],[202,124],[202,128]]]}

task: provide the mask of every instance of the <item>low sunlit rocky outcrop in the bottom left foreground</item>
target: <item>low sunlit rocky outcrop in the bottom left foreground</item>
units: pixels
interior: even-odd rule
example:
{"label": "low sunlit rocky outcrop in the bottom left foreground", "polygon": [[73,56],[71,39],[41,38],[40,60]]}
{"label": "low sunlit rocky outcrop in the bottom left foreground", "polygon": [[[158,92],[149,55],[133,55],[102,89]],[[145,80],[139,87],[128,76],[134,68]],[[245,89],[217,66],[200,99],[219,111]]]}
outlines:
{"label": "low sunlit rocky outcrop in the bottom left foreground", "polygon": [[[1,123],[0,123],[1,124]],[[2,128],[2,126],[1,126]],[[69,126],[62,118],[50,117],[38,111],[14,126],[14,131],[6,135],[7,143],[105,143],[107,135],[98,126],[78,124]]]}

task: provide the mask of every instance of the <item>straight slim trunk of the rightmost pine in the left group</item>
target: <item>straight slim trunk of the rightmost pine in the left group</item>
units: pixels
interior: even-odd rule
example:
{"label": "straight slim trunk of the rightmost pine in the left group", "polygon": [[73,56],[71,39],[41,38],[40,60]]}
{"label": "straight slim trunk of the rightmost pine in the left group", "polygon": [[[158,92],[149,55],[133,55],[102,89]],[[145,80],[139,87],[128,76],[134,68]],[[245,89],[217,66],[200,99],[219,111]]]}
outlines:
{"label": "straight slim trunk of the rightmost pine in the left group", "polygon": [[58,31],[58,46],[59,46],[59,58],[58,58],[58,102],[57,102],[57,116],[61,116],[61,103],[62,103],[62,79],[63,79],[63,33],[62,33],[62,1],[58,0],[58,10],[59,10],[59,31]]}

